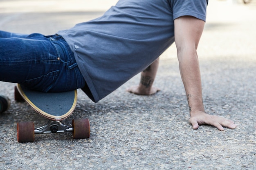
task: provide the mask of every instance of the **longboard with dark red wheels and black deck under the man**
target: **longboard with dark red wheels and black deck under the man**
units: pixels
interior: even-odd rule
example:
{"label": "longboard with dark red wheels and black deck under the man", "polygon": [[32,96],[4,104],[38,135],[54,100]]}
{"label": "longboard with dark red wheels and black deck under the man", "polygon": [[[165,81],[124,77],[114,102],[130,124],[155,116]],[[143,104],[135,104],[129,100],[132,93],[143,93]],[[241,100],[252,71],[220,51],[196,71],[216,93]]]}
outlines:
{"label": "longboard with dark red wheels and black deck under the man", "polygon": [[27,102],[37,113],[49,119],[45,126],[34,128],[34,123],[18,122],[18,142],[31,142],[35,140],[34,134],[72,132],[74,139],[90,137],[89,119],[73,119],[72,127],[61,123],[61,120],[69,117],[76,108],[77,91],[61,93],[43,93],[31,91],[25,86],[17,84],[15,87],[15,99]]}

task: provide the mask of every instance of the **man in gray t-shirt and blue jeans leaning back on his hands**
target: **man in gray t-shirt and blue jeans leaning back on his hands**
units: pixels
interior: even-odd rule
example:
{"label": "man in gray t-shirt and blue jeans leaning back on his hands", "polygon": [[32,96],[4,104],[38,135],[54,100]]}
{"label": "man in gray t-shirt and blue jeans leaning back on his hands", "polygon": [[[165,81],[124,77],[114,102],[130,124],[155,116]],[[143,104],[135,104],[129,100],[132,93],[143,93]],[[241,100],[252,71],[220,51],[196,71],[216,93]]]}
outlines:
{"label": "man in gray t-shirt and blue jeans leaning back on his hands", "polygon": [[[196,50],[207,3],[208,0],[119,0],[103,16],[56,35],[2,31],[0,80],[43,92],[82,88],[92,101],[99,102],[146,68],[153,69],[148,77],[154,77],[159,55],[175,36],[193,129],[202,124],[219,130],[224,130],[223,126],[236,128],[231,120],[204,112]],[[143,78],[146,85],[153,82],[148,77]],[[157,89],[139,85],[129,91],[152,94]]]}

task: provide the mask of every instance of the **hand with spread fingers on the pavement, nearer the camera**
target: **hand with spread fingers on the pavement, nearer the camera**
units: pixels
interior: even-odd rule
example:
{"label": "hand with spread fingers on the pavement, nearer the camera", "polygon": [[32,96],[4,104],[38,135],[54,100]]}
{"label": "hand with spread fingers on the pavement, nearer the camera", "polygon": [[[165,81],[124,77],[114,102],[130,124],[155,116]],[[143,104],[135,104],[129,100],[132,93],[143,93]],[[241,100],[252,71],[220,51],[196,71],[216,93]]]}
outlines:
{"label": "hand with spread fingers on the pavement, nearer the camera", "polygon": [[236,124],[233,121],[226,119],[224,117],[219,117],[215,115],[208,115],[202,111],[198,111],[197,113],[191,113],[191,118],[189,119],[190,124],[192,124],[193,129],[198,129],[199,125],[208,124],[215,126],[219,130],[224,130],[223,126],[227,128],[234,129],[236,128]]}

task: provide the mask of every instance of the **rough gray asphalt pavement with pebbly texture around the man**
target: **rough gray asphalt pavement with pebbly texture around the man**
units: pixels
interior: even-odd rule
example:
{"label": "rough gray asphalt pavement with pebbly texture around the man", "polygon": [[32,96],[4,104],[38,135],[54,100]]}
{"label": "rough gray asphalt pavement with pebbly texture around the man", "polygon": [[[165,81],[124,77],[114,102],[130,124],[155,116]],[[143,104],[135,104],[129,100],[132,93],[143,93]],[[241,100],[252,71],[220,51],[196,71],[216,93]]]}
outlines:
{"label": "rough gray asphalt pavement with pebbly texture around the man", "polygon": [[[50,35],[96,18],[116,2],[0,0],[0,30]],[[11,99],[0,115],[0,169],[255,170],[256,1],[241,2],[210,0],[198,47],[205,110],[233,120],[236,129],[192,129],[173,45],[160,57],[156,95],[126,92],[139,75],[97,104],[78,91],[75,112],[63,122],[88,117],[89,139],[40,134],[32,143],[18,143],[18,121],[39,127],[47,119],[14,101],[15,84],[0,82],[0,95]]]}

